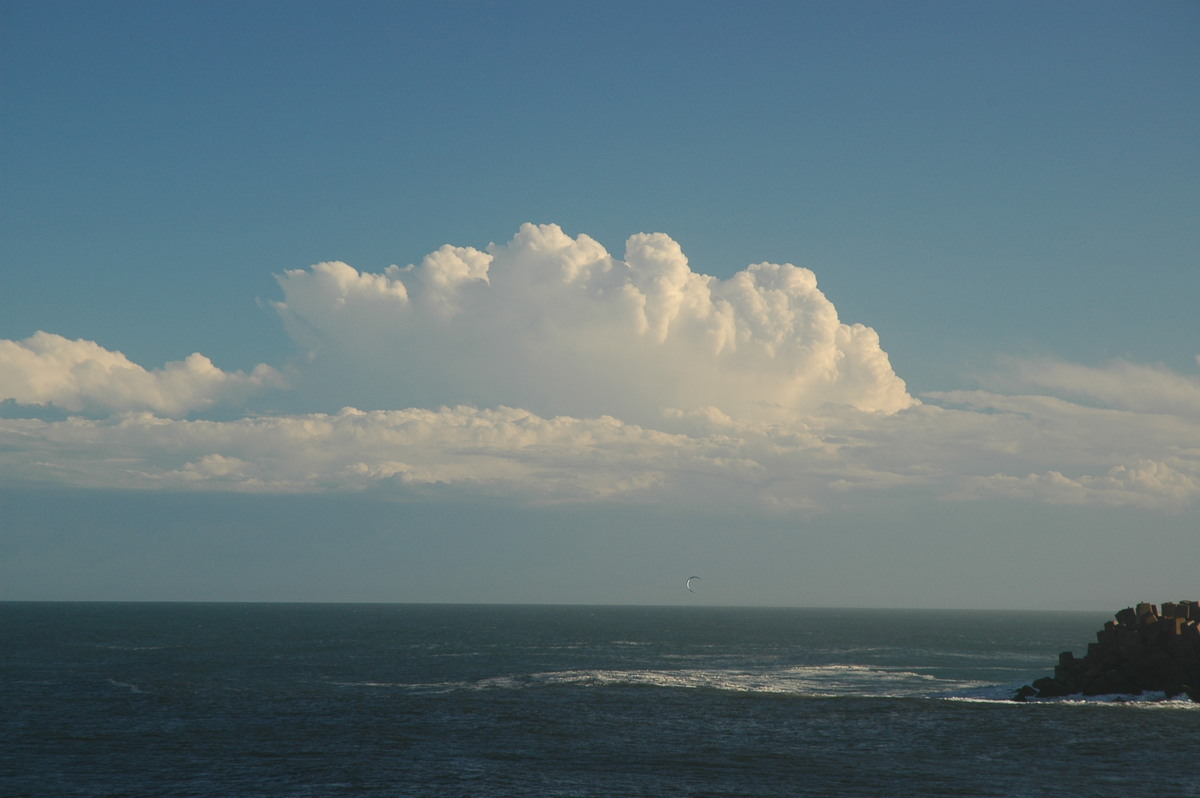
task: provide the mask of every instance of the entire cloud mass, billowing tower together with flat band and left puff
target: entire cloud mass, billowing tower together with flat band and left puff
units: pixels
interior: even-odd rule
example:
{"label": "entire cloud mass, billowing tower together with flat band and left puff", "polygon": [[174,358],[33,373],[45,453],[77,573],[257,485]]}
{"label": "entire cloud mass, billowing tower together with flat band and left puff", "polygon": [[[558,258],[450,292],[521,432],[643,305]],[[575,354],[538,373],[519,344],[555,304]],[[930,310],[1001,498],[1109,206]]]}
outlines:
{"label": "entire cloud mass, billowing tower together with flat band and left puff", "polygon": [[630,238],[617,260],[527,224],[486,251],[278,282],[280,317],[310,353],[296,403],[341,409],[180,418],[280,386],[278,373],[199,354],[148,371],[40,332],[0,342],[0,398],[109,415],[0,418],[0,481],[769,514],[898,491],[1165,512],[1200,499],[1195,377],[1009,361],[992,390],[922,403],[809,270],[721,281],[661,234]]}

